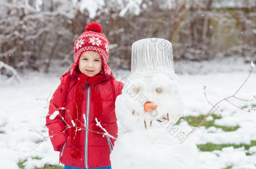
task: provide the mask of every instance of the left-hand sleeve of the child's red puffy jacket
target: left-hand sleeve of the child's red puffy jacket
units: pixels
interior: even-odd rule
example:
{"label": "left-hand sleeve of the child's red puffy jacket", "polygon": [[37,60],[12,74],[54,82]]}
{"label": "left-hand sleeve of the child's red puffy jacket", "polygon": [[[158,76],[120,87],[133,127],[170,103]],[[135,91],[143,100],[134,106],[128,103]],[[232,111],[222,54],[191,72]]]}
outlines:
{"label": "left-hand sleeve of the child's red puffy jacket", "polygon": [[[52,95],[49,112],[46,116],[45,126],[47,126],[47,128],[49,129],[48,132],[54,151],[61,151],[65,141],[68,138],[68,134],[64,131],[65,122],[62,119],[65,116],[64,111],[58,109],[61,107],[61,96],[62,89],[60,88],[60,86],[58,86],[57,90]],[[57,116],[54,118],[55,114],[57,114]]]}

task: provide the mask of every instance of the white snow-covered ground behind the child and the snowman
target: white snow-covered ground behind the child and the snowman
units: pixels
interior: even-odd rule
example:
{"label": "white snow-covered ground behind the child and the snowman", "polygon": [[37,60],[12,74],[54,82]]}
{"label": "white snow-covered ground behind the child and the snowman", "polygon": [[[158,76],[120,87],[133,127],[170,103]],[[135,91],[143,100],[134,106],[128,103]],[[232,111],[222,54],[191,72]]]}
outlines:
{"label": "white snow-covered ground behind the child and the snowman", "polygon": [[[222,98],[232,96],[243,84],[250,70],[250,63],[244,63],[240,58],[232,61],[227,59],[222,62],[204,62],[204,64],[186,63],[177,71],[180,72],[178,74],[179,89],[185,101],[184,115],[206,114],[211,108],[203,94],[203,86],[206,86],[209,101],[215,104]],[[25,169],[34,169],[34,166],[42,167],[44,164],[60,165],[58,152],[53,151],[49,138],[31,151],[43,137],[29,130],[37,130],[47,136],[43,117],[47,114],[47,108],[44,108],[47,106],[47,101],[36,100],[36,98],[47,98],[50,93],[53,93],[60,83],[61,73],[65,72],[55,72],[51,75],[27,72],[21,76],[21,83],[7,82],[5,77],[0,76],[0,168],[18,169],[18,162],[26,159]],[[114,74],[117,80],[121,80],[123,77],[128,77],[130,71],[119,70]],[[253,71],[236,97],[250,100],[254,95],[256,95],[256,71]],[[256,104],[256,100],[246,102],[232,98],[230,101],[248,108]],[[215,127],[206,129],[201,126],[193,133],[196,144],[208,142],[250,144],[251,140],[256,140],[256,111],[248,113],[228,102],[221,103],[218,110],[223,118],[215,120],[215,124],[238,125],[240,128],[225,132]],[[181,122],[179,127],[190,131],[185,121]],[[122,130],[122,127],[119,126],[119,129]],[[246,152],[254,154],[246,156]],[[226,147],[221,151],[200,152],[200,165],[200,169],[223,169],[226,166],[233,166],[232,169],[256,169],[256,146],[249,150],[243,147],[238,149]]]}

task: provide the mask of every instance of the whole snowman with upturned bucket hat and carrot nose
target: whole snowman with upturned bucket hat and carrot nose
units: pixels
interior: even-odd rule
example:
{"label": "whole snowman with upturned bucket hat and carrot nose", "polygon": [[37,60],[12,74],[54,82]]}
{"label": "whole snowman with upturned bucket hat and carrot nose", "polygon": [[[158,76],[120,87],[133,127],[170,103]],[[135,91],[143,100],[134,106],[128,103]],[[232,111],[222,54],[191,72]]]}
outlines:
{"label": "whole snowman with upturned bucket hat and carrot nose", "polygon": [[174,72],[172,44],[160,38],[132,45],[131,76],[124,78],[115,102],[118,134],[110,154],[113,169],[198,169],[199,153],[191,136],[175,123],[183,101]]}

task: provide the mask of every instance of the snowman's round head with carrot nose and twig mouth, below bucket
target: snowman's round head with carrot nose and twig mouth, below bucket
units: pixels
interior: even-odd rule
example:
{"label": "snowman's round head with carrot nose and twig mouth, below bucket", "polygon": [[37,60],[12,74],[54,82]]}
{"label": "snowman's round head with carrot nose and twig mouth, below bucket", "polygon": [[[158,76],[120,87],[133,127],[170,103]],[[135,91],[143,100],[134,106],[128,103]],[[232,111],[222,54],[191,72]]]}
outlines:
{"label": "snowman's round head with carrot nose and twig mouth, below bucket", "polygon": [[176,75],[131,76],[115,103],[118,121],[128,130],[150,129],[160,123],[175,124],[183,113]]}

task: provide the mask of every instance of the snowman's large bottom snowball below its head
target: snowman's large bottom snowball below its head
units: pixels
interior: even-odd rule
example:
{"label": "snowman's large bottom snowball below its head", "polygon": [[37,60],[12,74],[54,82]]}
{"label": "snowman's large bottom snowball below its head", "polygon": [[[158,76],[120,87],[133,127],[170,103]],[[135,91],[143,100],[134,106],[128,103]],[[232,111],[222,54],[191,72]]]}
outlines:
{"label": "snowman's large bottom snowball below its head", "polygon": [[112,169],[199,169],[196,144],[180,144],[165,129],[130,131],[118,135],[110,154]]}

